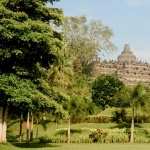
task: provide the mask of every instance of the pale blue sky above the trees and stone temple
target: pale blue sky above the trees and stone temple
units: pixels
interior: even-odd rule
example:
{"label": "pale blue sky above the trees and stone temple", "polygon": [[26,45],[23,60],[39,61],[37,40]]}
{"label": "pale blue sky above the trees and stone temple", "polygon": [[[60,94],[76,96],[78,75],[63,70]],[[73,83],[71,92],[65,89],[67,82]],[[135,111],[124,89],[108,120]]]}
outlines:
{"label": "pale blue sky above the trees and stone temple", "polygon": [[61,0],[55,6],[63,8],[66,16],[85,15],[109,26],[117,46],[109,58],[129,43],[139,58],[150,62],[150,0]]}

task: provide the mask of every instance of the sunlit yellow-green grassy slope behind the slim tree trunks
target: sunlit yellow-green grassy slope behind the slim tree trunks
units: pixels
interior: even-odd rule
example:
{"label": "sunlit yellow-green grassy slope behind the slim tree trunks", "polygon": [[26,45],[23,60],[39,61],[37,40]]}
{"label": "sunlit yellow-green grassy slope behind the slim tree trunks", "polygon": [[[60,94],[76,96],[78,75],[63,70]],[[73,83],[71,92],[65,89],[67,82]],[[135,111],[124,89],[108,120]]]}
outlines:
{"label": "sunlit yellow-green grassy slope behind the slim tree trunks", "polygon": [[[48,123],[47,128],[43,128],[41,125],[39,125],[39,136],[38,137],[48,137],[54,140],[54,142],[65,142],[67,140],[67,136],[64,132],[64,134],[56,134],[59,133],[60,129],[66,131],[66,128],[68,127],[67,123]],[[107,132],[110,133],[112,131],[113,135],[115,137],[120,136],[119,134],[119,128],[118,125],[115,123],[78,123],[78,124],[71,124],[71,128],[76,130],[76,131],[81,131],[81,132],[74,132],[71,134],[71,141],[72,142],[77,142],[81,143],[82,141],[86,141],[86,143],[90,142],[89,140],[89,135],[94,129],[106,129],[109,130]],[[18,130],[16,130],[18,129]],[[117,133],[118,134],[115,134]],[[136,142],[150,142],[150,123],[145,123],[145,124],[139,124],[135,128],[136,132]],[[16,142],[16,139],[18,140],[18,133],[19,133],[19,123],[12,123],[12,125],[9,126],[8,128],[8,141],[10,142]],[[23,130],[23,139],[26,139],[26,130],[24,128]],[[36,126],[34,127],[34,136],[36,133]],[[109,137],[110,138],[110,137]],[[120,139],[120,138],[119,138]],[[56,140],[56,141],[55,141]],[[83,143],[84,143],[83,142]]]}

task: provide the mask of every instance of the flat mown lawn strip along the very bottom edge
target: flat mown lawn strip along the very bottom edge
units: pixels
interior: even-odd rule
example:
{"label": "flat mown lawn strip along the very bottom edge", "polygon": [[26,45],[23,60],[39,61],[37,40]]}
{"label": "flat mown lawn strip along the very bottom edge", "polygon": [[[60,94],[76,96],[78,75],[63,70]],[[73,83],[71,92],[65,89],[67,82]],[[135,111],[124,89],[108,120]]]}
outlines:
{"label": "flat mown lawn strip along the very bottom edge", "polygon": [[150,144],[0,145],[0,150],[149,150]]}

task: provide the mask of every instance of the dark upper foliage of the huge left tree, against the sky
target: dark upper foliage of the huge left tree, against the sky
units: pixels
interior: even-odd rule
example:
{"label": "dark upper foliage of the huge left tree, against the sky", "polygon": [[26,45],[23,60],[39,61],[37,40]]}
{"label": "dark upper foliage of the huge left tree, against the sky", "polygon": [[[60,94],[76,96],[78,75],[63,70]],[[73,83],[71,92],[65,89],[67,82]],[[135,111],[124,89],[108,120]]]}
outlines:
{"label": "dark upper foliage of the huge left tree, against the sky", "polygon": [[[44,0],[0,1],[0,72],[36,76],[37,67],[57,62],[63,38],[56,27],[63,13]],[[52,1],[51,1],[52,2]]]}

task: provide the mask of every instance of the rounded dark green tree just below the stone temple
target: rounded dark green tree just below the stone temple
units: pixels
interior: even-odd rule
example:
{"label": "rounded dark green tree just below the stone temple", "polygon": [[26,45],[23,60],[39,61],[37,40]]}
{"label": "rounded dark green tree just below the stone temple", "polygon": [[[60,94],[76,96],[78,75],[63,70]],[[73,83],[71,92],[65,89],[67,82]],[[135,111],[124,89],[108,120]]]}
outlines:
{"label": "rounded dark green tree just below the stone temple", "polygon": [[102,109],[114,105],[114,96],[124,87],[124,84],[113,76],[100,76],[92,85],[92,99]]}

